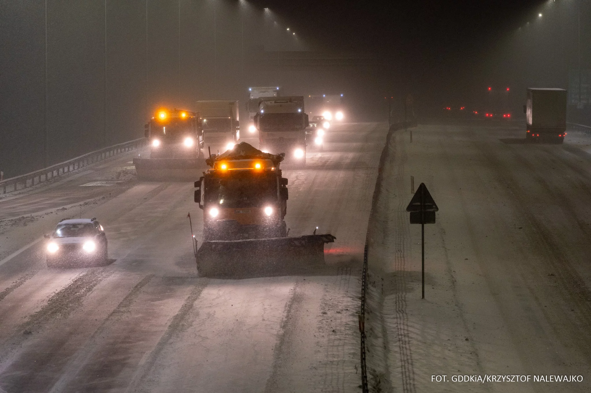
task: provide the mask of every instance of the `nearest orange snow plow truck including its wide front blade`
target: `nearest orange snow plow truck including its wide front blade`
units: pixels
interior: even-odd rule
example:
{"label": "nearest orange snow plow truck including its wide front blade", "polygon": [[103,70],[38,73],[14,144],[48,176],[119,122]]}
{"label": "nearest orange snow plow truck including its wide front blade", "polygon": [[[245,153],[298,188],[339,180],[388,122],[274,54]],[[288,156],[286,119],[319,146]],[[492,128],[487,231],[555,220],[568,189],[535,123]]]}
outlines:
{"label": "nearest orange snow plow truck including its wide front blade", "polygon": [[242,142],[206,160],[212,168],[195,182],[203,209],[200,276],[235,276],[324,262],[331,234],[287,237],[287,179],[284,154],[264,153]]}

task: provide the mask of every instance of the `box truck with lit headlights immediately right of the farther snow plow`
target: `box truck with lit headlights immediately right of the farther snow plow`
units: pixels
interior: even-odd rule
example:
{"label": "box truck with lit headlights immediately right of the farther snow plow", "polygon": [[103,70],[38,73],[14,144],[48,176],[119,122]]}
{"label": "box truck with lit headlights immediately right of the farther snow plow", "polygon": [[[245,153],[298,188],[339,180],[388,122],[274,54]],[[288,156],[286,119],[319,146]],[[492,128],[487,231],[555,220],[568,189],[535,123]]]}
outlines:
{"label": "box truck with lit headlights immediately right of the farther snow plow", "polygon": [[238,100],[197,101],[197,112],[203,130],[200,145],[209,157],[232,149],[240,137]]}

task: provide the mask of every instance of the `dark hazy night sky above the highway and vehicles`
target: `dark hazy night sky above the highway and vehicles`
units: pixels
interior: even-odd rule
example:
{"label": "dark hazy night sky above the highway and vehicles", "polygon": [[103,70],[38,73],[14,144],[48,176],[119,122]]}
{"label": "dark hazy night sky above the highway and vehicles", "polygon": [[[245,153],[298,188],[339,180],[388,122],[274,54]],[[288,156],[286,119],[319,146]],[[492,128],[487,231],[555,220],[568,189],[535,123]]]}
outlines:
{"label": "dark hazy night sky above the highway and vehicles", "polygon": [[[590,3],[181,0],[179,12],[178,1],[108,0],[105,63],[105,2],[48,0],[46,79],[44,2],[2,1],[0,171],[14,176],[141,137],[160,106],[243,107],[249,86],[344,93],[357,120],[384,120],[384,96],[400,103],[413,94],[423,117],[477,107],[486,86],[510,86],[517,109],[525,87],[567,87],[579,37],[581,67],[591,68]],[[302,51],[365,60],[274,60]]]}

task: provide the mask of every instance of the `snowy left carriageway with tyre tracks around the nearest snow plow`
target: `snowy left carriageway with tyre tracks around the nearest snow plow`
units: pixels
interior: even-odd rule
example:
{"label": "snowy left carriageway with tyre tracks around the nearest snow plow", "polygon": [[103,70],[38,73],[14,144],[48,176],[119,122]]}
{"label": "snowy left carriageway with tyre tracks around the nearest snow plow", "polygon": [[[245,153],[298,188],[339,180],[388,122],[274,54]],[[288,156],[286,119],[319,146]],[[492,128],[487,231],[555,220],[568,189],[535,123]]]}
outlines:
{"label": "snowy left carriageway with tyre tracks around the nearest snow plow", "polygon": [[[337,238],[306,274],[197,277],[193,185],[138,182],[132,155],[1,199],[0,392],[359,391],[359,273],[386,133],[335,126],[305,169],[284,169],[290,235]],[[106,266],[46,267],[43,234],[65,217],[99,219]]]}

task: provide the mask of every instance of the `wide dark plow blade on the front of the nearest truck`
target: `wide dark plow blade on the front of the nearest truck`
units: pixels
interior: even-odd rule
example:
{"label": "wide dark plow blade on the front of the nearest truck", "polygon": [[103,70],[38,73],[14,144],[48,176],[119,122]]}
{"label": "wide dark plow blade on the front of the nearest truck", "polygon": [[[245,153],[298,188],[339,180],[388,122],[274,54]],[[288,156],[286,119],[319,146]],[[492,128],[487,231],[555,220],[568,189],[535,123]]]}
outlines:
{"label": "wide dark plow blade on the front of the nearest truck", "polygon": [[324,234],[205,241],[197,251],[197,271],[201,277],[236,277],[324,264],[324,243],[335,239]]}

